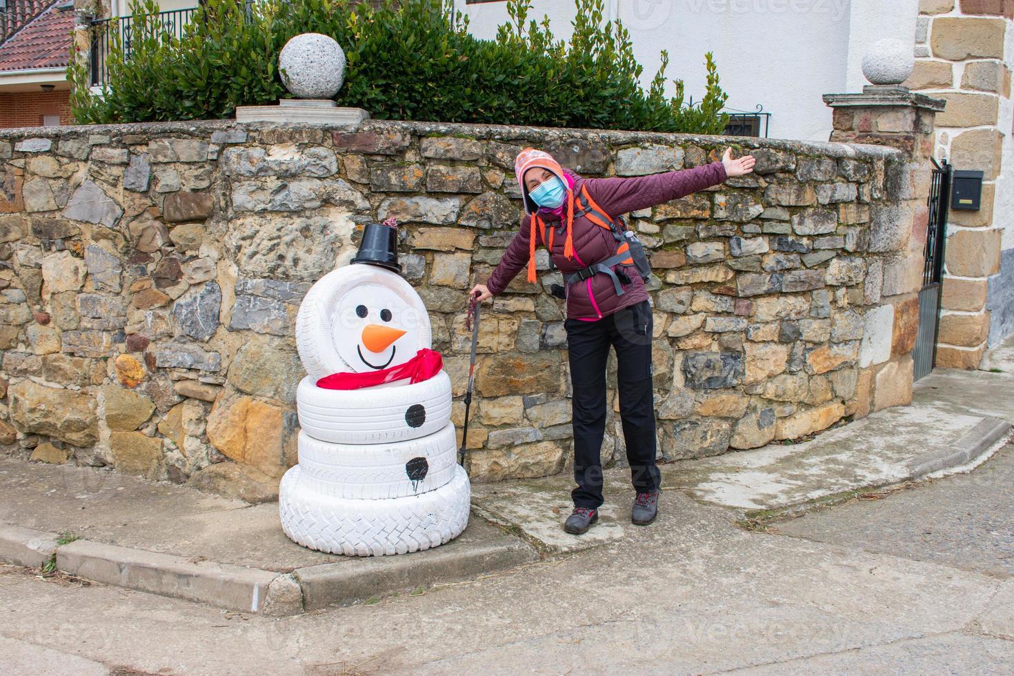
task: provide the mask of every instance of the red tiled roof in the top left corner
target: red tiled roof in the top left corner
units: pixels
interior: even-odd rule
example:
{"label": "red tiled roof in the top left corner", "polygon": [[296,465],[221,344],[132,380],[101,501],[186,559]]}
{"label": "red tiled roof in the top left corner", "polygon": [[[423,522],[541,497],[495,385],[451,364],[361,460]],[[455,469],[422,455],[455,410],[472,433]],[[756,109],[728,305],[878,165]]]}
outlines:
{"label": "red tiled roof in the top left corner", "polygon": [[0,44],[0,71],[66,66],[74,29],[73,9],[56,0],[42,14]]}

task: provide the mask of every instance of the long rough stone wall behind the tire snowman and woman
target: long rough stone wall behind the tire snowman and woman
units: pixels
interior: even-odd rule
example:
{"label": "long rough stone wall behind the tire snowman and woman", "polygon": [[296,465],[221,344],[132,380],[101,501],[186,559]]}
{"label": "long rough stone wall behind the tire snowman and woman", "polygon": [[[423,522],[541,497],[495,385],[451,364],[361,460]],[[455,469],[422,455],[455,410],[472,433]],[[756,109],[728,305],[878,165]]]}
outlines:
{"label": "long rough stone wall behind the tire snowman and woman", "polygon": [[[460,399],[465,290],[517,229],[519,148],[634,176],[732,141],[757,157],[754,175],[629,219],[659,278],[660,455],[798,439],[907,403],[925,195],[896,149],[384,121],[20,129],[0,132],[0,448],[269,498],[297,456],[295,313],[361,224],[403,224],[406,275]],[[541,284],[519,275],[483,317],[477,480],[570,458],[562,304],[546,292],[559,274],[538,255]],[[602,452],[623,463],[609,401]],[[458,426],[462,414],[458,401]]]}

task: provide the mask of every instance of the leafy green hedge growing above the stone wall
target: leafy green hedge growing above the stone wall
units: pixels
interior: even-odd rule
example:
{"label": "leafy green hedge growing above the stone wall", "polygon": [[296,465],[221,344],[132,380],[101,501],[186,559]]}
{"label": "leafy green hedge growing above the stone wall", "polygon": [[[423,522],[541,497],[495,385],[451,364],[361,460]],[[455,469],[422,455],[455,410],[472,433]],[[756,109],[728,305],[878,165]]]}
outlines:
{"label": "leafy green hedge growing above the stone wall", "polygon": [[[603,0],[575,0],[570,41],[549,19],[528,19],[528,0],[510,0],[496,40],[467,30],[451,0],[403,0],[379,9],[348,0],[207,0],[183,37],[163,31],[154,0],[134,2],[129,59],[111,29],[104,96],[88,92],[89,73],[73,59],[71,104],[79,123],[225,119],[237,105],[290,96],[278,54],[301,32],[332,35],[345,50],[340,105],[382,120],[534,125],[719,134],[726,94],[712,55],[708,90],[696,104],[663,95],[668,55],[648,91],[620,21],[603,22]],[[248,13],[247,13],[248,11]]]}

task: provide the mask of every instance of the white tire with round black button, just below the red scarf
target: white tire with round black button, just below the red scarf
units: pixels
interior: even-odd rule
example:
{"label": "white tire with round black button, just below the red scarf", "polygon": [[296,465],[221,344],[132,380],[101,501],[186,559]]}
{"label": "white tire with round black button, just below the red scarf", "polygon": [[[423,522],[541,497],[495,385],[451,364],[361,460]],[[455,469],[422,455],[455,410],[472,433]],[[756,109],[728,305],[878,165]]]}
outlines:
{"label": "white tire with round black button, just below the red scarf", "polygon": [[296,388],[296,411],[303,431],[336,444],[385,444],[419,439],[450,421],[450,377],[400,387],[324,389],[311,376]]}

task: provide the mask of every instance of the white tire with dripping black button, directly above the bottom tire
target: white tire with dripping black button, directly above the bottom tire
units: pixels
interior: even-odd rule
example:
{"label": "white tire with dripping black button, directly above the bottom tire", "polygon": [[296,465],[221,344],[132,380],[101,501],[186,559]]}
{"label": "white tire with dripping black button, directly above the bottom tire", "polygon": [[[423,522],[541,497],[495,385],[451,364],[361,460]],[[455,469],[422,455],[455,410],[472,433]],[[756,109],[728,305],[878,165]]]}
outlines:
{"label": "white tire with dripping black button, directly above the bottom tire", "polygon": [[333,444],[299,433],[298,491],[333,498],[383,500],[418,496],[450,481],[457,466],[454,425],[390,444]]}

